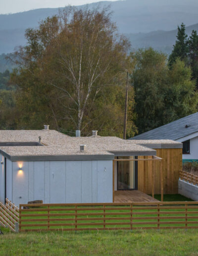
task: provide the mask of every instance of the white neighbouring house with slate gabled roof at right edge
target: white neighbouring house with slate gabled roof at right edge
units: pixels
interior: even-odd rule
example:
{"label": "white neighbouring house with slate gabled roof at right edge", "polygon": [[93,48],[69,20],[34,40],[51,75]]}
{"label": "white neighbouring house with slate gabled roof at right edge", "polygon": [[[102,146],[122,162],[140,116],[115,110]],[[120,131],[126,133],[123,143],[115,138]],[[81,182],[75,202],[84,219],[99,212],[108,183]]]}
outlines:
{"label": "white neighbouring house with slate gabled roof at right edge", "polygon": [[183,143],[183,162],[198,161],[198,112],[134,136],[132,140],[172,139]]}

